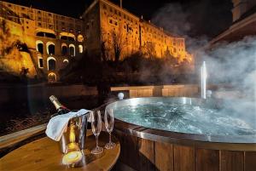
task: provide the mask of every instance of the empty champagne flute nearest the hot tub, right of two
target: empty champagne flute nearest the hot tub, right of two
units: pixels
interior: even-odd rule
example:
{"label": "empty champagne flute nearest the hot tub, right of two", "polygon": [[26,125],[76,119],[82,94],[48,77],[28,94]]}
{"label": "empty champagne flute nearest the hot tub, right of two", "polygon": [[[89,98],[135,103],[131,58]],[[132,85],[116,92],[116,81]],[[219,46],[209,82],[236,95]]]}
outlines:
{"label": "empty champagne flute nearest the hot tub, right of two", "polygon": [[105,127],[109,134],[109,142],[105,145],[106,149],[112,149],[115,144],[111,141],[111,132],[113,131],[113,109],[106,109],[104,115]]}

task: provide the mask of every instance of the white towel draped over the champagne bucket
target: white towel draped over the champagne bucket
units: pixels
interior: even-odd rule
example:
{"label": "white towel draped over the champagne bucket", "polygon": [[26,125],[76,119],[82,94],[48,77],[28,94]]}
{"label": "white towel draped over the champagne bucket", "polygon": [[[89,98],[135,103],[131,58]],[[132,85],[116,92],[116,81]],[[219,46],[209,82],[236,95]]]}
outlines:
{"label": "white towel draped over the champagne bucket", "polygon": [[73,117],[80,117],[87,112],[89,111],[81,109],[79,111],[70,111],[67,114],[52,117],[47,124],[45,134],[52,140],[61,140],[61,135],[67,130],[68,121]]}

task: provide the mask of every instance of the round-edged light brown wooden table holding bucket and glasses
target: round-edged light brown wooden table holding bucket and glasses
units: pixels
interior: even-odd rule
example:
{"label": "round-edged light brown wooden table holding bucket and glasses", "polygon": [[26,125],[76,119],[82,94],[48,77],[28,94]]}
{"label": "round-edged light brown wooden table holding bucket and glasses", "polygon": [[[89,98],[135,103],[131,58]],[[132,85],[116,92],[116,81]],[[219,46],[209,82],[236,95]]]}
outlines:
{"label": "round-edged light brown wooden table holding bucket and glasses", "polygon": [[[119,141],[112,136],[116,146],[111,150],[106,150],[102,154],[93,155],[90,151],[96,146],[94,135],[86,137],[84,150],[84,166],[81,168],[67,168],[61,163],[63,154],[59,150],[58,143],[44,137],[23,145],[15,151],[0,158],[0,170],[84,170],[84,171],[103,171],[110,170],[119,158]],[[99,136],[99,145],[104,146],[108,143],[108,134],[102,132]]]}

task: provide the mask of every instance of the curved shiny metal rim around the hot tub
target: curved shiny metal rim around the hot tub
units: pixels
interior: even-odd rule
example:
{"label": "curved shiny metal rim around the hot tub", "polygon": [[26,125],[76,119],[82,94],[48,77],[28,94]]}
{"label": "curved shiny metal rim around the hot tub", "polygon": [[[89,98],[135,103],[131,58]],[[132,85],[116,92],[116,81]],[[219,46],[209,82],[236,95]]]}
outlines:
{"label": "curved shiny metal rim around the hot tub", "polygon": [[[191,99],[201,100],[198,98],[188,97],[143,97],[143,98],[130,98],[125,100],[134,99],[151,99],[151,98],[170,98],[170,99]],[[120,101],[116,100],[106,105],[106,109],[117,104]],[[139,138],[154,140],[159,142],[173,143],[178,145],[189,145],[199,148],[207,148],[212,150],[230,150],[230,151],[256,151],[256,134],[255,135],[206,135],[206,134],[187,134],[166,131],[156,128],[146,128],[133,123],[126,123],[125,121],[115,118],[114,131],[123,132],[137,136]]]}

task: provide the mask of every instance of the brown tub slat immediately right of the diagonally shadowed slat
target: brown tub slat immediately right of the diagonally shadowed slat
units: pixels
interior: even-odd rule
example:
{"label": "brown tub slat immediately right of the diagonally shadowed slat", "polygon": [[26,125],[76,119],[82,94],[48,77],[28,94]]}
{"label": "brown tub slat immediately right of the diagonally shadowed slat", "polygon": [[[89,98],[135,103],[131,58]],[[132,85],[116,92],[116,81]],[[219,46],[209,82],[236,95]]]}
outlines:
{"label": "brown tub slat immediately right of the diagonally shadowed slat", "polygon": [[154,164],[156,170],[173,171],[173,145],[154,142]]}

